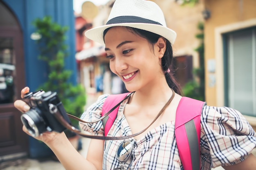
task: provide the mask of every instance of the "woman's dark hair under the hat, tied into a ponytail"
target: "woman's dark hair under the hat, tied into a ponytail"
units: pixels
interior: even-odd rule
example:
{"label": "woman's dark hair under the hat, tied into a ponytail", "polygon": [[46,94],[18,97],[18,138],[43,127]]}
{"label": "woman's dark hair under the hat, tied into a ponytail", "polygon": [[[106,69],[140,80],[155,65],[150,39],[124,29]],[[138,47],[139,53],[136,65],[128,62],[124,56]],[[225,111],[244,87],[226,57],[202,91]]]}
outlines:
{"label": "woman's dark hair under the hat, tied into a ponytail", "polygon": [[[110,27],[111,28],[111,27]],[[106,33],[110,28],[107,28],[103,32],[103,37],[105,37]],[[153,46],[155,43],[157,43],[159,37],[161,37],[158,34],[141,30],[138,28],[132,28],[132,27],[126,27],[128,31],[131,31],[132,33],[135,33],[139,35],[140,37],[143,37],[148,40],[148,42]],[[164,37],[163,37],[164,38]],[[165,38],[164,38],[165,39]],[[162,70],[164,72],[164,76],[166,79],[166,82],[170,88],[172,88],[177,94],[182,95],[182,90],[180,87],[180,84],[177,83],[175,76],[174,76],[174,70],[173,70],[173,48],[171,46],[170,41],[166,40],[166,50],[164,52],[164,57],[162,57]],[[170,71],[170,72],[169,72]]]}

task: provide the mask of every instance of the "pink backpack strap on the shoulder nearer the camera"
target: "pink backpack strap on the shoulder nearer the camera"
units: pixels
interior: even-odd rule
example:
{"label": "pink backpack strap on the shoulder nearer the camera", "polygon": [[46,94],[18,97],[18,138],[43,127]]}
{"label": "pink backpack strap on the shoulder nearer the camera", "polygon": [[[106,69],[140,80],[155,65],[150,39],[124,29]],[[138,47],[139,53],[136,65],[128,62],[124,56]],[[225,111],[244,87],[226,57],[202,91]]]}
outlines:
{"label": "pink backpack strap on the shoulder nearer the camera", "polygon": [[[101,116],[104,116],[110,109],[115,107],[121,100],[123,100],[129,93],[122,93],[122,94],[111,94],[109,95],[105,102],[103,103],[102,113]],[[113,125],[115,119],[117,118],[117,112],[120,105],[117,106],[115,110],[113,110],[106,118],[103,118],[102,123],[104,127],[104,134],[105,136],[108,135],[108,131],[110,130],[111,126]]]}

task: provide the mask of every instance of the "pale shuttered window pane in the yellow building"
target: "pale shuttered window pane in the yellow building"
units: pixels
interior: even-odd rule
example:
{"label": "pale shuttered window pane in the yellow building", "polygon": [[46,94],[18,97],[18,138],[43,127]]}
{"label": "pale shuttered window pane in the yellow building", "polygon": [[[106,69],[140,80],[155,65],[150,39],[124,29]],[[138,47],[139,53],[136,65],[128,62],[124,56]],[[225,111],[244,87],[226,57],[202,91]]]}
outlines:
{"label": "pale shuttered window pane in the yellow building", "polygon": [[256,116],[256,28],[228,36],[228,105]]}

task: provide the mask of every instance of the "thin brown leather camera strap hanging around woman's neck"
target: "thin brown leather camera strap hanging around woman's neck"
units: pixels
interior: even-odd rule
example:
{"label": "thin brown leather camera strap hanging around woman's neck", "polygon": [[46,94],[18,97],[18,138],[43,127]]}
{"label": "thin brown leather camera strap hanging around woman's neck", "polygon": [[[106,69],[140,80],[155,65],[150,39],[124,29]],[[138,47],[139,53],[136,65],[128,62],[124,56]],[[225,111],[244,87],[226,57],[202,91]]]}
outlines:
{"label": "thin brown leather camera strap hanging around woman's neck", "polygon": [[[173,89],[172,89],[173,91]],[[134,92],[128,94],[126,96],[126,98],[124,98],[123,100],[121,100],[121,102],[119,102],[117,105],[115,105],[115,107],[113,107],[110,111],[108,111],[108,113],[106,113],[103,117],[101,117],[99,120],[97,121],[94,121],[94,122],[86,122],[84,120],[81,120],[79,118],[77,118],[76,116],[73,116],[73,115],[70,115],[67,113],[67,115],[71,118],[71,119],[74,119],[74,120],[77,120],[79,122],[83,122],[83,123],[96,123],[96,122],[99,122],[100,120],[104,119],[106,116],[108,116],[113,110],[115,110],[124,100],[126,100],[131,94],[133,94]],[[171,101],[173,100],[175,96],[175,92],[173,91],[173,94],[171,96],[171,98],[166,102],[166,104],[164,105],[164,107],[159,111],[159,113],[157,114],[157,116],[155,117],[155,119],[153,120],[153,122],[151,122],[144,130],[138,132],[138,133],[135,133],[135,134],[132,134],[132,135],[128,135],[128,136],[119,136],[119,137],[111,137],[111,136],[94,136],[94,135],[87,135],[85,133],[82,133],[82,131],[80,129],[77,129],[76,127],[70,125],[64,118],[63,116],[61,115],[61,113],[58,111],[58,109],[55,109],[53,114],[54,116],[56,117],[56,119],[58,119],[58,121],[67,129],[69,129],[70,131],[80,135],[80,136],[83,136],[83,137],[88,137],[88,138],[91,138],[91,139],[102,139],[102,140],[120,140],[120,139],[128,139],[128,138],[131,138],[131,137],[135,137],[141,133],[143,133],[144,131],[146,131],[154,122],[155,120],[157,120],[157,118],[159,118],[159,116],[164,112],[164,110],[166,109],[166,107],[171,103]]]}

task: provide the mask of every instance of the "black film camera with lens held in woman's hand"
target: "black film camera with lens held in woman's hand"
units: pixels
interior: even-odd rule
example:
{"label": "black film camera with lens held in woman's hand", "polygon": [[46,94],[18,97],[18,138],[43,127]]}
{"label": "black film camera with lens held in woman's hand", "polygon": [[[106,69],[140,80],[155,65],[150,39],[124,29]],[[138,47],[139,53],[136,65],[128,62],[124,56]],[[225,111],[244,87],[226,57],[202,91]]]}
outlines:
{"label": "black film camera with lens held in woman's hand", "polygon": [[23,101],[30,106],[30,109],[21,115],[21,121],[34,137],[46,131],[61,133],[66,129],[54,116],[56,111],[61,113],[68,124],[71,124],[56,92],[43,90],[30,92],[25,94]]}

